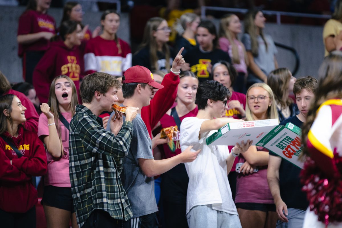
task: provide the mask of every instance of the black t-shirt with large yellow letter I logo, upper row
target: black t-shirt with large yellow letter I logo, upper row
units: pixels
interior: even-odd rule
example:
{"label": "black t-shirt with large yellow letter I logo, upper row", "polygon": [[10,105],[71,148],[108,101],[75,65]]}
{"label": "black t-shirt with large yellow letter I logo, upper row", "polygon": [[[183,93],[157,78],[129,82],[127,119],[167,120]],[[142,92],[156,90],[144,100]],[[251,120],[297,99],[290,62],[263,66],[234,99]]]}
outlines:
{"label": "black t-shirt with large yellow letter I logo, upper row", "polygon": [[191,71],[198,77],[199,82],[204,80],[212,80],[212,77],[208,71],[208,63],[213,66],[220,60],[227,61],[231,63],[231,58],[228,53],[222,51],[221,49],[214,49],[211,52],[204,52],[199,49],[199,46],[186,52],[183,55],[186,63],[190,64]]}

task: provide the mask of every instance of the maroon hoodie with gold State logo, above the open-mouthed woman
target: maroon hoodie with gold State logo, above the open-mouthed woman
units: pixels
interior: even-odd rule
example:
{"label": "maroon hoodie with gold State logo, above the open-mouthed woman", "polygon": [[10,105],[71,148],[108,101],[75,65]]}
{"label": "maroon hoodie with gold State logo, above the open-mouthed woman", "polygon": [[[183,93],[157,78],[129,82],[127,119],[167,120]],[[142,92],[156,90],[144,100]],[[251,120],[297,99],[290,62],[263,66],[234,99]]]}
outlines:
{"label": "maroon hoodie with gold State logo, above the open-mouthed woman", "polygon": [[59,75],[69,76],[79,92],[81,67],[83,66],[78,46],[67,48],[63,41],[52,42],[33,72],[33,85],[41,103],[47,103],[52,80]]}

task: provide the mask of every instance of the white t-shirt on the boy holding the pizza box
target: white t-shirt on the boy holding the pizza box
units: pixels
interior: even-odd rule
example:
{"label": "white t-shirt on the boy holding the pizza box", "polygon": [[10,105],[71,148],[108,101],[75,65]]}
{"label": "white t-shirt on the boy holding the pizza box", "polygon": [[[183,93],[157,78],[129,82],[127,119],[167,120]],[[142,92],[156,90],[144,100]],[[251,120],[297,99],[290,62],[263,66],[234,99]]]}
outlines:
{"label": "white t-shirt on the boy holding the pizza box", "polygon": [[194,146],[193,151],[201,149],[195,161],[185,163],[189,176],[186,213],[194,206],[212,204],[214,210],[237,215],[227,178],[228,147],[207,146],[206,138],[214,131],[201,134],[199,137],[203,121],[206,119],[188,117],[181,123],[181,150],[184,151],[190,145]]}

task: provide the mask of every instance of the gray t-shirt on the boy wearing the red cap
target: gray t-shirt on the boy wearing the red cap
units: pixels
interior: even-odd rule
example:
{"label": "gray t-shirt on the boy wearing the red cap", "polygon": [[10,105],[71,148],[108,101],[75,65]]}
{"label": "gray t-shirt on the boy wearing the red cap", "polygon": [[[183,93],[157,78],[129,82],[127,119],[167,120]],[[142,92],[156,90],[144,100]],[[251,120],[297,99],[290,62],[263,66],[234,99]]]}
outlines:
{"label": "gray t-shirt on the boy wearing the red cap", "polygon": [[154,159],[151,138],[140,114],[133,120],[131,146],[128,155],[123,159],[123,169],[120,174],[123,188],[131,204],[133,218],[158,211],[154,195],[154,177],[147,177],[143,173],[139,166],[139,158]]}

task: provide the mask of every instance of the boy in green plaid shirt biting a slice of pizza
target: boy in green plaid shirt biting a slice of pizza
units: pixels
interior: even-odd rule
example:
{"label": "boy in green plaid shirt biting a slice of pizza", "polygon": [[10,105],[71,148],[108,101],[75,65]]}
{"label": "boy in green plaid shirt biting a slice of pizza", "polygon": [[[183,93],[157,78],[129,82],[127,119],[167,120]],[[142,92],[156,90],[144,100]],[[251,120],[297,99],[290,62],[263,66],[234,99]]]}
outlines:
{"label": "boy in green plaid shirt biting a slice of pizza", "polygon": [[132,217],[130,203],[119,178],[122,158],[132,139],[132,121],[138,108],[128,107],[126,121],[116,112],[103,129],[103,111],[112,111],[120,83],[108,73],[92,73],[81,85],[82,105],[69,126],[71,193],[79,227],[122,227]]}

